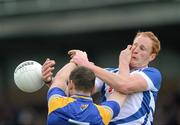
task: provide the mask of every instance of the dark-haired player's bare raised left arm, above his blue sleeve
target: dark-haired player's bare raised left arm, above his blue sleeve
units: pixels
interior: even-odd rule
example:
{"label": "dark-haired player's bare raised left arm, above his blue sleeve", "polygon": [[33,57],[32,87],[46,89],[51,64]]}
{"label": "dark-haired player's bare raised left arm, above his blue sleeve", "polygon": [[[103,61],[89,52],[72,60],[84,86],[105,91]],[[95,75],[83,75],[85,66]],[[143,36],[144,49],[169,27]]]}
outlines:
{"label": "dark-haired player's bare raised left arm, above his blue sleeve", "polygon": [[62,67],[54,77],[51,87],[59,87],[62,90],[65,90],[67,87],[66,83],[69,79],[69,75],[74,68],[76,68],[76,64],[72,62]]}

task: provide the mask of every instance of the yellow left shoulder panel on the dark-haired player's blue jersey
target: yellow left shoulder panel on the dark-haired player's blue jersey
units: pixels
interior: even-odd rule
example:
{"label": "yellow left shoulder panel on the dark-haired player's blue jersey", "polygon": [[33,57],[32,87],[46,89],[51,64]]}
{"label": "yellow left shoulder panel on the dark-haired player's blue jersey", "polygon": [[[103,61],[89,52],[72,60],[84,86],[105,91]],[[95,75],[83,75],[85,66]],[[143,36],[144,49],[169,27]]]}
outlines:
{"label": "yellow left shoulder panel on the dark-haired player's blue jersey", "polygon": [[49,102],[48,102],[48,114],[74,101],[75,99],[70,98],[70,97],[52,96],[50,97]]}

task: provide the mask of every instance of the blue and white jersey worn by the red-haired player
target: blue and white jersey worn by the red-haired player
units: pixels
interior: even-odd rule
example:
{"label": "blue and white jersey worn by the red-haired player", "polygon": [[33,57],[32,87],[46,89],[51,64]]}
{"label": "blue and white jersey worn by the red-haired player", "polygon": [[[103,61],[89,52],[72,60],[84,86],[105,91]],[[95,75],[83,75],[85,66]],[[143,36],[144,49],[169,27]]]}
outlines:
{"label": "blue and white jersey worn by the red-haired player", "polygon": [[[118,68],[106,68],[109,72],[118,73]],[[148,85],[146,91],[129,94],[121,112],[115,117],[110,125],[151,125],[155,111],[155,101],[161,86],[161,74],[159,70],[152,67],[136,69],[131,74],[141,75]],[[96,78],[96,88],[103,95],[102,101],[113,92],[113,89],[99,78]]]}

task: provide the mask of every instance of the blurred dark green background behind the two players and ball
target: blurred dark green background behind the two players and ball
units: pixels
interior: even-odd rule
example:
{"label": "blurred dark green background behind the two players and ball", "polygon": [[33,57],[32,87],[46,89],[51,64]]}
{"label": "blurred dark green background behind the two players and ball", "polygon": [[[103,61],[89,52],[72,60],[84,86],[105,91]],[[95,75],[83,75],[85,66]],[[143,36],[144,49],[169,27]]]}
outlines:
{"label": "blurred dark green background behind the two players and ball", "polygon": [[19,90],[18,64],[47,57],[56,69],[81,49],[101,67],[117,67],[138,31],[152,31],[162,50],[151,63],[163,75],[155,125],[180,125],[180,0],[0,0],[0,125],[46,124],[48,88]]}

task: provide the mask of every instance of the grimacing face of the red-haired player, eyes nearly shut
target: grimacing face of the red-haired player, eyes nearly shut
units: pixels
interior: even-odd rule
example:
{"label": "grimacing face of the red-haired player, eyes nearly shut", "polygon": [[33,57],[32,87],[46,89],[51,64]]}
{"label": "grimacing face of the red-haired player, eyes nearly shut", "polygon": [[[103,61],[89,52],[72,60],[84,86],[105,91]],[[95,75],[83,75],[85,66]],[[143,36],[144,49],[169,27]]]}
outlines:
{"label": "grimacing face of the red-haired player, eyes nearly shut", "polygon": [[138,36],[134,39],[132,45],[131,68],[140,68],[148,66],[149,62],[154,59],[152,54],[153,41],[146,36]]}

